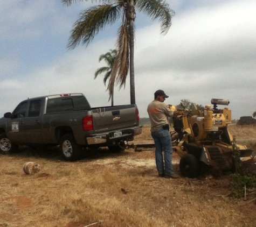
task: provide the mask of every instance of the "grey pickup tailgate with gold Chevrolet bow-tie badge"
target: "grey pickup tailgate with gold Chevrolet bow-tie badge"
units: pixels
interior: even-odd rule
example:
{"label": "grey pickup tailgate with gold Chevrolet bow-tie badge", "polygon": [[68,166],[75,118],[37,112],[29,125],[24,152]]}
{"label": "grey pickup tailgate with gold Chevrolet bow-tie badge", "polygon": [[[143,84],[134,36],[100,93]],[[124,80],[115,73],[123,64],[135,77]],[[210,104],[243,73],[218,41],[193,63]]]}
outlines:
{"label": "grey pickup tailgate with gold Chevrolet bow-tie badge", "polygon": [[95,132],[139,125],[136,105],[95,108],[92,113]]}

